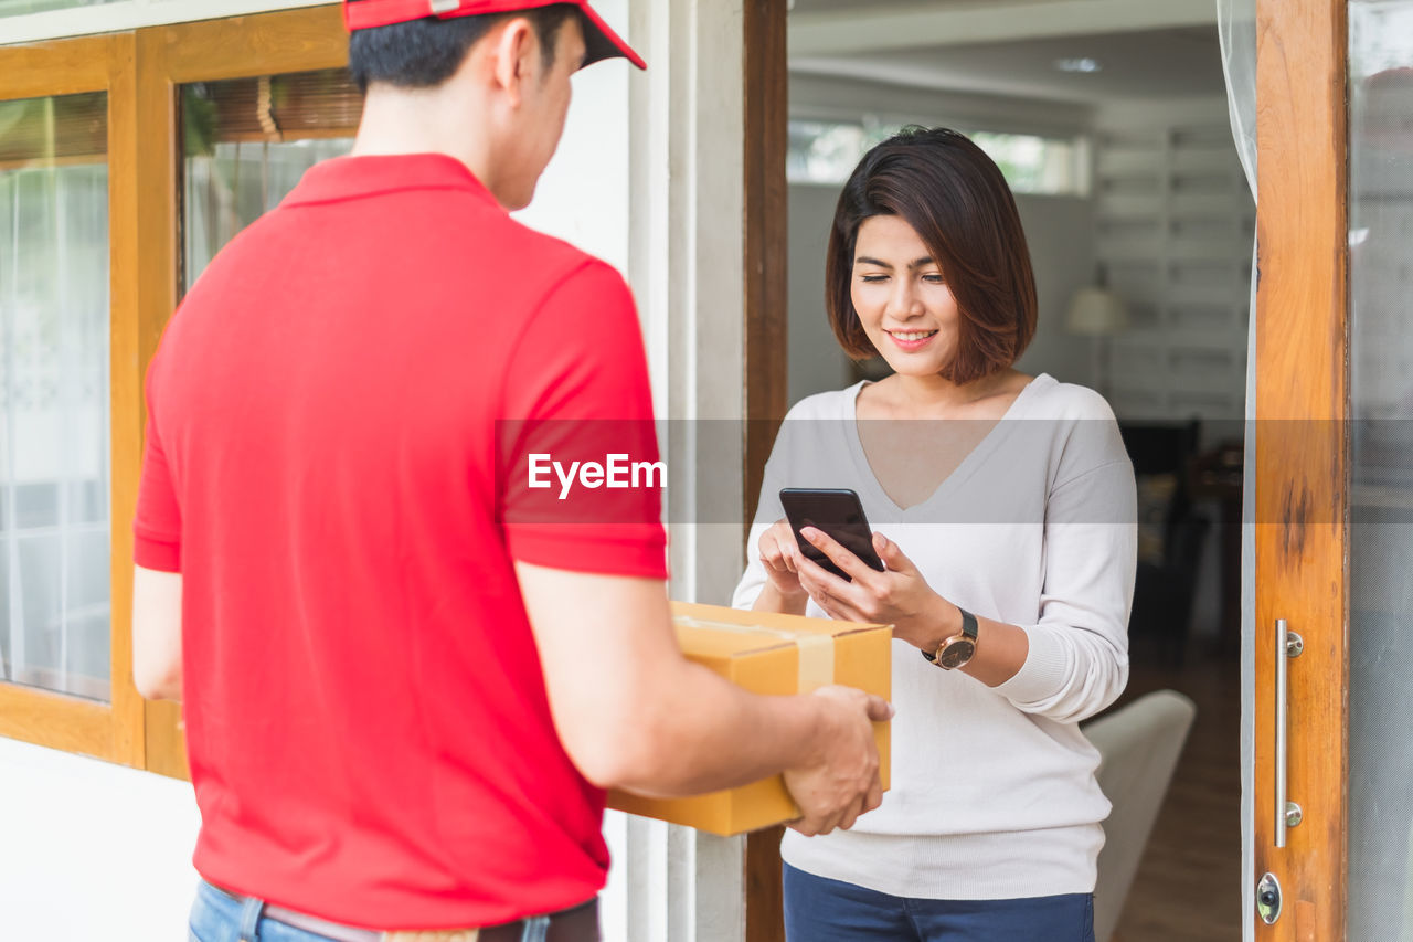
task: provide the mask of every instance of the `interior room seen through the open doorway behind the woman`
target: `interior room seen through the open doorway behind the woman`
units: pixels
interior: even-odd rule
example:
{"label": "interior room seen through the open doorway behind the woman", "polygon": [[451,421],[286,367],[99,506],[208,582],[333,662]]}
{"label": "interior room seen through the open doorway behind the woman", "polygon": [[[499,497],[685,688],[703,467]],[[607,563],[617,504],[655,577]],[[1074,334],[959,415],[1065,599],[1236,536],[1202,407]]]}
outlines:
{"label": "interior room seen through the open doorway behind the woman", "polygon": [[1215,4],[794,0],[788,120],[791,403],[887,369],[851,362],[824,313],[829,223],[858,158],[901,126],[948,126],[1006,174],[1040,300],[1017,368],[1104,393],[1137,475],[1132,676],[1106,716],[1161,689],[1195,704],[1191,728],[1171,733],[1170,781],[1157,762],[1111,795],[1111,827],[1126,833],[1101,857],[1098,938],[1239,938],[1238,523],[1256,211]]}

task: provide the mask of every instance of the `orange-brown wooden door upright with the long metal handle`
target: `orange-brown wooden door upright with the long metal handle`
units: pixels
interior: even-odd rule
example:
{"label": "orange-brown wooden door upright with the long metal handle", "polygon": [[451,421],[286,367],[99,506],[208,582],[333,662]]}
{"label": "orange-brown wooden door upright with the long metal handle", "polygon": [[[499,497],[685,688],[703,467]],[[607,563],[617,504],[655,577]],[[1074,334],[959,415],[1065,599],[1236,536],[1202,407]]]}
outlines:
{"label": "orange-brown wooden door upright with the long metal handle", "polygon": [[[1256,938],[1345,938],[1348,816],[1348,8],[1256,4],[1255,876],[1283,907]],[[1287,659],[1289,789],[1303,822],[1275,847],[1276,620]],[[1255,894],[1255,887],[1243,888]],[[1253,912],[1248,908],[1246,912]]]}

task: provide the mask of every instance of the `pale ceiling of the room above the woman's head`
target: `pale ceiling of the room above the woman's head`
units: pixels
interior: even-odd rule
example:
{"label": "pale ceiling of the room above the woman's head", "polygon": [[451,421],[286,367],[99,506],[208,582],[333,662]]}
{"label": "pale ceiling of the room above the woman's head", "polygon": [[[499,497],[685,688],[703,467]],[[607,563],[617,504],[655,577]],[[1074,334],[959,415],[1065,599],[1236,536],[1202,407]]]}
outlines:
{"label": "pale ceiling of the room above the woman's head", "polygon": [[[1142,14],[1119,23],[1105,16],[1119,8],[1106,0],[794,0],[790,68],[1084,103],[1225,93],[1210,0],[1201,10],[1173,0],[1123,1],[1126,13]],[[910,44],[911,37],[921,42]],[[1072,58],[1101,68],[1056,68],[1057,59]]]}

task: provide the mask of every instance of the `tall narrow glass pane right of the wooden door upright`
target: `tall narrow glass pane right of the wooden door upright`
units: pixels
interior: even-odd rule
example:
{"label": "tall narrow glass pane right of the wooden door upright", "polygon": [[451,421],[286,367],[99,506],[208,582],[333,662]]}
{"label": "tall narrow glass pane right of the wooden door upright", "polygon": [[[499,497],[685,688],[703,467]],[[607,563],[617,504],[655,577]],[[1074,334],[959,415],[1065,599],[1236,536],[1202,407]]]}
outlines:
{"label": "tall narrow glass pane right of the wooden door upright", "polygon": [[1413,0],[1349,3],[1349,939],[1413,939]]}

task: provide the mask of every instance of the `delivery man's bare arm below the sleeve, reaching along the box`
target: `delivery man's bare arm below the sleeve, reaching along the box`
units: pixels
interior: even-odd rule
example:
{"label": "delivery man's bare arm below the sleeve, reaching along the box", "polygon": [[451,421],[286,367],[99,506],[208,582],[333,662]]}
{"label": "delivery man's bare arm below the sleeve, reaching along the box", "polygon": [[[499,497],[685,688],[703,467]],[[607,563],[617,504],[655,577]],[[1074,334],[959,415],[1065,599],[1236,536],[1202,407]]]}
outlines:
{"label": "delivery man's bare arm below the sleeve, reaching along the box", "polygon": [[760,696],[688,661],[661,583],[516,573],[555,728],[591,782],[688,795],[821,765],[841,734],[862,751],[863,702],[851,714],[828,696]]}

